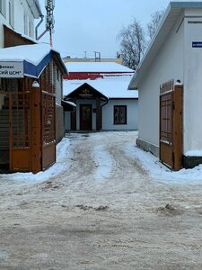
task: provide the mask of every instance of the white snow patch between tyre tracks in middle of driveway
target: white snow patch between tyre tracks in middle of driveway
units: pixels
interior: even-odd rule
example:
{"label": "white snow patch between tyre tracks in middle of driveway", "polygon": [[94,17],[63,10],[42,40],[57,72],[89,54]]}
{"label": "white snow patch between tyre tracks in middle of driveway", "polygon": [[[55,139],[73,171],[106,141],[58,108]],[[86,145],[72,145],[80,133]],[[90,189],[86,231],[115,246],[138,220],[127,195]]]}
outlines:
{"label": "white snow patch between tyre tracks in middle of driveway", "polygon": [[113,162],[110,154],[104,149],[103,145],[94,148],[92,158],[94,159],[97,167],[94,173],[95,179],[101,181],[109,178],[113,167]]}

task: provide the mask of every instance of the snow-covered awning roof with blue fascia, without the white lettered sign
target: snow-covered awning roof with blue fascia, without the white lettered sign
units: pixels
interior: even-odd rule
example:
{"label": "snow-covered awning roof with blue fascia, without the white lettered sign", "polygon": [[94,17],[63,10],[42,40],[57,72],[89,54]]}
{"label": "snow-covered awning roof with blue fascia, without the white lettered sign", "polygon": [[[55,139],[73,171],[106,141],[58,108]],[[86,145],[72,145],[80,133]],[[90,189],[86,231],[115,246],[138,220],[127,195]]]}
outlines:
{"label": "snow-covered awning roof with blue fascia, without the white lettered sign", "polygon": [[[48,44],[29,44],[0,49],[1,62],[23,62],[24,75],[38,77],[41,71],[52,58],[52,52]],[[61,63],[63,63],[61,59]],[[65,64],[64,69],[66,69]]]}

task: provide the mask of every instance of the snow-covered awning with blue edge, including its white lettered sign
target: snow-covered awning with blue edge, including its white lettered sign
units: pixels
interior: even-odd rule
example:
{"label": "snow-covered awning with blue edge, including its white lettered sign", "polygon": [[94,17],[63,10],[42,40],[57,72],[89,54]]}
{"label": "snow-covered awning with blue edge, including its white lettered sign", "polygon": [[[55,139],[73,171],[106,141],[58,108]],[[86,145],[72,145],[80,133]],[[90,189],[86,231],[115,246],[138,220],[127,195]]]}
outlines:
{"label": "snow-covered awning with blue edge, including its white lettered sign", "polygon": [[55,49],[47,44],[31,44],[0,49],[0,77],[38,78],[48,62],[56,55],[63,73],[66,66]]}

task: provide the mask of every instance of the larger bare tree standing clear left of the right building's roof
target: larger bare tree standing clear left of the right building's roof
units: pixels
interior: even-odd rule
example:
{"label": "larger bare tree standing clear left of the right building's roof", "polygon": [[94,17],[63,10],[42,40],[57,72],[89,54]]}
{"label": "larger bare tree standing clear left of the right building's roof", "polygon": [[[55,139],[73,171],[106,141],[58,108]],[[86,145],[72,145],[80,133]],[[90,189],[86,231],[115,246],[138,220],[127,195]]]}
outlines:
{"label": "larger bare tree standing clear left of the right building's roof", "polygon": [[145,52],[145,31],[136,18],[133,23],[119,31],[118,39],[123,65],[136,70]]}

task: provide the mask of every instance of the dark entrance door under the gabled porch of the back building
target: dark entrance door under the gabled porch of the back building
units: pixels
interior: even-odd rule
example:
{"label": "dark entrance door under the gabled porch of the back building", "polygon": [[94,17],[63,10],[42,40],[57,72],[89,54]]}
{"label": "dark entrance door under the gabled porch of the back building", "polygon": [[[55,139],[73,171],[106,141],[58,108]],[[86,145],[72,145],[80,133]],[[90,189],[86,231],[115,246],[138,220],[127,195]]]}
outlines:
{"label": "dark entrance door under the gabled porch of the back building", "polygon": [[80,130],[92,130],[92,105],[80,105]]}

